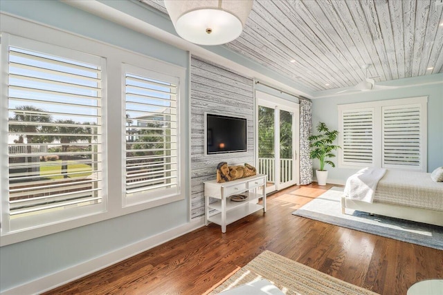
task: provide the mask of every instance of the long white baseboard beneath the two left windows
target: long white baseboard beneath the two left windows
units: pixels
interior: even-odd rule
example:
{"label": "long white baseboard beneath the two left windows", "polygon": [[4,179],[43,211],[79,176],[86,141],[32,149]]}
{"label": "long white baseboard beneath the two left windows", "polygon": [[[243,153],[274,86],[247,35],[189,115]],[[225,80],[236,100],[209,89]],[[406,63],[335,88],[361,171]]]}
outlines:
{"label": "long white baseboard beneath the two left windows", "polygon": [[128,245],[127,247],[107,253],[85,263],[80,263],[79,265],[69,267],[68,269],[62,270],[61,272],[44,276],[43,278],[39,278],[29,283],[19,285],[18,287],[13,287],[4,292],[1,292],[1,294],[24,295],[40,294],[42,292],[46,292],[48,290],[54,289],[55,287],[59,287],[66,283],[72,282],[73,280],[77,280],[78,278],[82,278],[83,276],[87,276],[88,274],[92,274],[93,272],[97,272],[100,269],[104,269],[105,267],[109,267],[110,265],[114,265],[115,263],[119,263],[122,260],[140,254],[141,252],[148,249],[152,249],[153,247],[161,245],[168,240],[183,236],[183,234],[187,234],[188,232],[203,226],[204,218],[195,218],[195,220],[191,220],[190,222],[186,223],[186,225],[175,227],[174,229],[165,231],[150,238],[146,238],[145,240],[141,240],[140,242]]}

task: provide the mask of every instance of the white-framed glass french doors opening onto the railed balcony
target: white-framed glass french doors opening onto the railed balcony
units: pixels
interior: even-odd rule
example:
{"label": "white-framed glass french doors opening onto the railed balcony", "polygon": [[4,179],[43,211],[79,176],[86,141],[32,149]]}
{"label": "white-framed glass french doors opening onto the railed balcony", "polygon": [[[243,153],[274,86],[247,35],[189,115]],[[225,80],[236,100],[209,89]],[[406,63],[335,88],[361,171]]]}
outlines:
{"label": "white-framed glass french doors opening onto the railed balcony", "polygon": [[266,193],[298,182],[299,108],[298,104],[292,104],[275,104],[275,99],[258,100],[258,171],[267,175]]}

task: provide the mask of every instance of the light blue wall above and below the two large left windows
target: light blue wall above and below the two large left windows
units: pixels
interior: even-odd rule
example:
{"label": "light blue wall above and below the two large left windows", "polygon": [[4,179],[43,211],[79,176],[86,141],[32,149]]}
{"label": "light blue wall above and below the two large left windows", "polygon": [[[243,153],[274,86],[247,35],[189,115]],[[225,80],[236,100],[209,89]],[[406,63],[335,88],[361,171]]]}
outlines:
{"label": "light blue wall above and below the two large left windows", "polygon": [[[128,5],[134,5],[127,2]],[[138,6],[137,6],[138,7]],[[139,7],[138,7],[139,8]],[[1,10],[189,68],[188,53],[59,1],[1,1]],[[5,28],[1,28],[4,30]],[[54,40],[56,41],[56,40]],[[186,77],[187,81],[189,77]],[[188,82],[185,83],[188,85]],[[188,89],[186,89],[188,93]],[[184,103],[188,106],[188,97]],[[189,109],[187,108],[187,112]],[[189,130],[187,124],[186,130]],[[189,154],[188,142],[185,153]],[[190,159],[186,158],[186,167]],[[184,189],[189,189],[186,173]],[[113,192],[109,192],[110,194]],[[185,200],[0,248],[0,291],[59,272],[189,222]]]}

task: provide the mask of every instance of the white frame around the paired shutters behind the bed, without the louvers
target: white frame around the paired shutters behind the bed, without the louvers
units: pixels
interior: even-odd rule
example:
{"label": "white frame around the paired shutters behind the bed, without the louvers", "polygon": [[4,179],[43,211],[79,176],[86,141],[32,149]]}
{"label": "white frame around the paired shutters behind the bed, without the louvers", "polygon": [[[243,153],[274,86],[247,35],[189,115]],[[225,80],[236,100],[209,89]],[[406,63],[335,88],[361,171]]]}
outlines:
{"label": "white frame around the paired shutters behind the bed, without the louvers", "polygon": [[[338,151],[338,168],[345,169],[360,169],[363,167],[379,167],[390,168],[400,170],[413,170],[413,171],[427,171],[427,96],[421,97],[408,97],[400,99],[387,99],[374,102],[360,102],[355,104],[339,104],[338,105],[338,142],[342,149]],[[420,109],[420,164],[419,166],[402,166],[402,165],[389,165],[383,164],[383,108],[391,108],[395,106],[409,107],[419,106]],[[373,108],[374,113],[372,117],[373,126],[373,149],[372,149],[372,164],[361,164],[358,162],[350,163],[343,161],[343,113],[347,111],[358,111],[359,109]]]}

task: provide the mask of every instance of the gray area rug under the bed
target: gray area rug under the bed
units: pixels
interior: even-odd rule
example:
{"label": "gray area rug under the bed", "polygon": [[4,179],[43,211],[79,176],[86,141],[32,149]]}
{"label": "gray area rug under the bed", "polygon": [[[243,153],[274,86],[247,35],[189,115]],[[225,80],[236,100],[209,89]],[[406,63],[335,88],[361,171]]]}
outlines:
{"label": "gray area rug under the bed", "polygon": [[343,215],[340,202],[342,194],[342,187],[332,187],[292,214],[443,250],[443,227],[387,216],[370,216],[368,213],[351,209],[346,209],[346,214]]}

